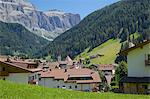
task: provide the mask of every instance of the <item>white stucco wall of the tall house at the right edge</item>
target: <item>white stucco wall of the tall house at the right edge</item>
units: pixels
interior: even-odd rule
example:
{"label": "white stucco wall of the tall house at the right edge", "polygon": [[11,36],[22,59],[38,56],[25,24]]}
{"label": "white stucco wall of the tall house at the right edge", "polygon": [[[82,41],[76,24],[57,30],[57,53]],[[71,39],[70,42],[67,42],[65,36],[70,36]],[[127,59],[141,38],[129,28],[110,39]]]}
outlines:
{"label": "white stucco wall of the tall house at the right edge", "polygon": [[129,77],[150,77],[150,66],[145,66],[145,54],[150,54],[150,44],[132,50],[127,55]]}

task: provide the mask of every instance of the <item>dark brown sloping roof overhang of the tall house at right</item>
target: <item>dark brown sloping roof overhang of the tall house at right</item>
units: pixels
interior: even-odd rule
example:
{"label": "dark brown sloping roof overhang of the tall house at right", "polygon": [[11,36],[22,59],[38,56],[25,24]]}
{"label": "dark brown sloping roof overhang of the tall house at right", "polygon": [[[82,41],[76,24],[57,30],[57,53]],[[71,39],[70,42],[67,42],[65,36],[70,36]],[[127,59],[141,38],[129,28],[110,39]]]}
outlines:
{"label": "dark brown sloping roof overhang of the tall house at right", "polygon": [[140,48],[140,47],[143,47],[144,45],[147,45],[147,44],[149,44],[149,43],[150,43],[150,40],[146,40],[146,41],[144,41],[144,42],[142,42],[142,43],[139,43],[139,44],[137,44],[137,45],[135,45],[135,46],[133,46],[133,47],[131,47],[131,48],[128,48],[128,49],[126,49],[126,50],[123,50],[123,51],[121,51],[121,52],[118,53],[118,54],[119,54],[119,55],[127,55],[130,51],[135,50],[135,49]]}

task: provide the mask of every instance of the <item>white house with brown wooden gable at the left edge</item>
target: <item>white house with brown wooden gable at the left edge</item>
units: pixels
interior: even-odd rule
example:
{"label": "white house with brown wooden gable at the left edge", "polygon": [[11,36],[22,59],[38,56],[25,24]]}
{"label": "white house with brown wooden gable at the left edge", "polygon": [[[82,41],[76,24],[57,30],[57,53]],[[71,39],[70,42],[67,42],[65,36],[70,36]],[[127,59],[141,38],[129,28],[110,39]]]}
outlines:
{"label": "white house with brown wooden gable at the left edge", "polygon": [[[23,63],[24,64],[24,63]],[[25,67],[29,68],[25,68]],[[33,69],[30,68],[32,65],[21,65],[21,63],[11,63],[8,61],[0,61],[0,79],[9,80],[17,83],[34,83],[38,82],[38,78],[34,79],[36,81],[33,82],[33,79],[29,79],[30,76],[37,76],[36,72],[41,71],[41,69]]]}

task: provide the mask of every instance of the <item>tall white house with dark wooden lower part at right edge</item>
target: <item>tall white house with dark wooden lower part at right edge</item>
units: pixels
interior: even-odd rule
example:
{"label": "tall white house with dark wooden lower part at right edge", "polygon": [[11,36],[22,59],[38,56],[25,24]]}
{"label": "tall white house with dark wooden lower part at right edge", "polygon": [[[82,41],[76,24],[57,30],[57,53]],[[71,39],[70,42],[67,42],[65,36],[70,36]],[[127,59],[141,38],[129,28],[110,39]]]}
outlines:
{"label": "tall white house with dark wooden lower part at right edge", "polygon": [[120,80],[124,93],[150,93],[150,40],[119,53],[127,55],[128,75]]}

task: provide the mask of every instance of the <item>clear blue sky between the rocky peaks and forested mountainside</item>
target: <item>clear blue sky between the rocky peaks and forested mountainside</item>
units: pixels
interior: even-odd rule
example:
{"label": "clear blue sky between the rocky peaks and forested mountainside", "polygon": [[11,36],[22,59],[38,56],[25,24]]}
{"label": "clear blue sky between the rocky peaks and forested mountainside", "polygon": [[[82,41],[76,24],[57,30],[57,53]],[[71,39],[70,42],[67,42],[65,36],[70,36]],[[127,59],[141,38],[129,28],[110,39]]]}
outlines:
{"label": "clear blue sky between the rocky peaks and forested mountainside", "polygon": [[64,12],[78,13],[84,18],[91,12],[110,5],[119,0],[29,0],[38,10],[63,10]]}

